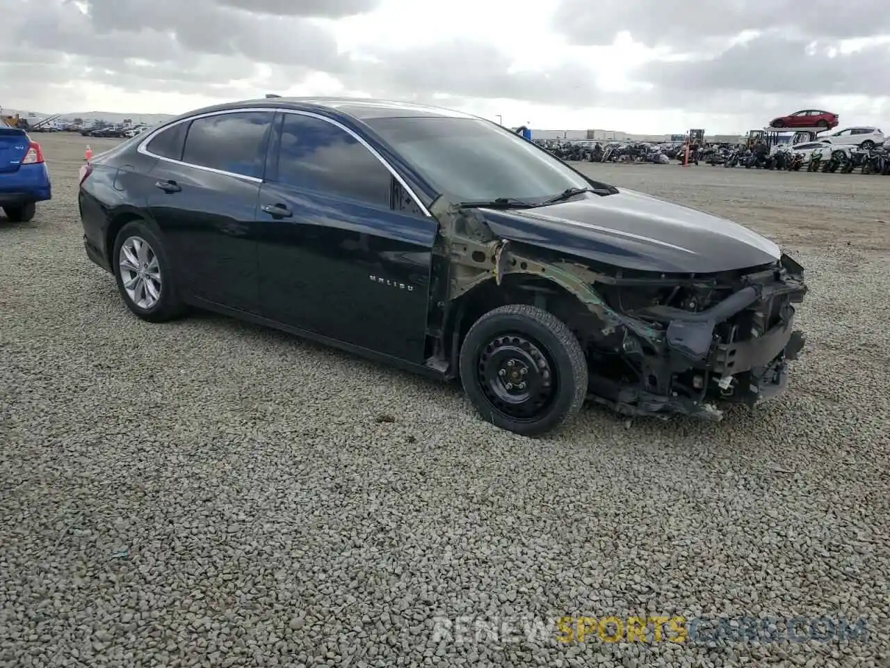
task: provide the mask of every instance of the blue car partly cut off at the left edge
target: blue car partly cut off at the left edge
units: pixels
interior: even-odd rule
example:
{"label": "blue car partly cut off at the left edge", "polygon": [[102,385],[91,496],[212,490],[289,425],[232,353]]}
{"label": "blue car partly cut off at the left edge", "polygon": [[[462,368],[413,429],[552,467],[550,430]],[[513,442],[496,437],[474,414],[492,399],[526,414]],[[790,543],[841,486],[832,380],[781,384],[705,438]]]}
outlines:
{"label": "blue car partly cut off at the left edge", "polygon": [[53,199],[40,144],[18,127],[0,124],[0,208],[12,223],[27,223],[36,203]]}

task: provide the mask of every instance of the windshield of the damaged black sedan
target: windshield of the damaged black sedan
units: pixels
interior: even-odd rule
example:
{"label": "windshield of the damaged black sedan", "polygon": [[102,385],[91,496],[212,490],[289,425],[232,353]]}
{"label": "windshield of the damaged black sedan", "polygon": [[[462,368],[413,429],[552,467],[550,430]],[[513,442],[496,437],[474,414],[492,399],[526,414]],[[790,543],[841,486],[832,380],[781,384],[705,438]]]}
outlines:
{"label": "windshield of the damaged black sedan", "polygon": [[[518,134],[479,118],[373,118],[368,125],[441,194],[455,202],[537,202],[590,188]],[[605,186],[603,186],[605,187]]]}

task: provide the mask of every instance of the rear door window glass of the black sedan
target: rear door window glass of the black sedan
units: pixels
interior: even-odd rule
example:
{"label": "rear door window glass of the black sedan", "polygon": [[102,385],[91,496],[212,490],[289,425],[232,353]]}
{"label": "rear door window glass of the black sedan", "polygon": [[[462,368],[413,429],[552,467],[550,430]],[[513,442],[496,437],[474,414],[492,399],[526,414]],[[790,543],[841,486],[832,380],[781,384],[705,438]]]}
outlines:
{"label": "rear door window glass of the black sedan", "polygon": [[185,139],[182,162],[262,178],[271,121],[271,111],[196,118]]}

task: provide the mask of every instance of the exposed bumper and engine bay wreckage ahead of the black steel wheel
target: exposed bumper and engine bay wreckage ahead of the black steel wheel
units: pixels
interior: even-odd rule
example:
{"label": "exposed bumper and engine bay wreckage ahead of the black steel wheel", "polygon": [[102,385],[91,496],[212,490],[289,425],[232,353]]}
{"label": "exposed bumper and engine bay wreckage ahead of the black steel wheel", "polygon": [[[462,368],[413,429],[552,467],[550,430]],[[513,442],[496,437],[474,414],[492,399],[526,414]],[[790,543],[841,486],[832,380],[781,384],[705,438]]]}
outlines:
{"label": "exposed bumper and engine bay wreckage ahead of the black steel wheel", "polygon": [[591,398],[636,415],[719,420],[721,404],[777,395],[804,346],[794,329],[803,267],[708,276],[599,276],[611,325],[587,340]]}

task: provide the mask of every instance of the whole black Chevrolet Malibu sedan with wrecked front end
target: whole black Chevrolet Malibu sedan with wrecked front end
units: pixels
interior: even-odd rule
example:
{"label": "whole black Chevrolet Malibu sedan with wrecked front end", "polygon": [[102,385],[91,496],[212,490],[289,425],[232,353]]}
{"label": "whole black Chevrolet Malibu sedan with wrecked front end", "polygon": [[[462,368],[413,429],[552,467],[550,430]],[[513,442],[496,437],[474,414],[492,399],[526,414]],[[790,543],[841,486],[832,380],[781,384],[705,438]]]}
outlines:
{"label": "whole black Chevrolet Malibu sedan with wrecked front end", "polygon": [[772,241],[456,111],[196,110],[90,160],[79,207],[143,320],[203,308],[460,379],[524,435],[586,400],[719,420],[780,392],[804,346],[804,270]]}

